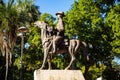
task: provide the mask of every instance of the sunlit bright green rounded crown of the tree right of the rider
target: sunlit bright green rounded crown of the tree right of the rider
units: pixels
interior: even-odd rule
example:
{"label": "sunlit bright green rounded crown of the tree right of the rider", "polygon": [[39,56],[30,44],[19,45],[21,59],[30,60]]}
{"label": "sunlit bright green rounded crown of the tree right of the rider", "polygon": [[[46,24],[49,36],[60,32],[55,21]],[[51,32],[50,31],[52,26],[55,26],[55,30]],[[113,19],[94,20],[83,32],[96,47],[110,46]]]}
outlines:
{"label": "sunlit bright green rounded crown of the tree right of the rider", "polygon": [[94,37],[95,35],[93,34],[101,30],[102,19],[99,16],[99,12],[99,8],[96,7],[92,0],[75,2],[64,19],[67,23],[65,25],[66,33],[79,35],[82,40],[86,40],[86,37]]}

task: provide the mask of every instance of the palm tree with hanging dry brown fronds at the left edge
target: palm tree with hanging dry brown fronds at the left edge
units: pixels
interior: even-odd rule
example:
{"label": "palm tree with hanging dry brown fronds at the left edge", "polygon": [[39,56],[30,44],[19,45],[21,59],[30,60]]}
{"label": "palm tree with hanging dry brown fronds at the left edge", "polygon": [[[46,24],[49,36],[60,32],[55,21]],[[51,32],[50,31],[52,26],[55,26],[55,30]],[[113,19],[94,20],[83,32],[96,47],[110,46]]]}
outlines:
{"label": "palm tree with hanging dry brown fronds at the left edge", "polygon": [[[6,76],[8,66],[12,64],[12,51],[17,38],[17,29],[29,24],[40,15],[38,7],[32,5],[29,0],[0,0],[0,48],[6,56]],[[34,18],[34,16],[36,17]]]}

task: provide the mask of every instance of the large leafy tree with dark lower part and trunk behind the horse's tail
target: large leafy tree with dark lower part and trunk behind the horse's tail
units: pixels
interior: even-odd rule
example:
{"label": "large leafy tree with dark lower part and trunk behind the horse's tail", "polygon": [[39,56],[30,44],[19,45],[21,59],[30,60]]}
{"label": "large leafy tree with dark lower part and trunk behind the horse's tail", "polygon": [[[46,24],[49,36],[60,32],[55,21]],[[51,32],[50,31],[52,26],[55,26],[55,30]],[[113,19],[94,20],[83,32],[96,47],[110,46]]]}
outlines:
{"label": "large leafy tree with dark lower part and trunk behind the horse's tail", "polygon": [[[74,2],[64,18],[66,34],[69,37],[76,36],[88,43],[90,61],[85,64],[85,75],[93,64],[96,66],[99,63],[108,65],[113,59],[110,44],[112,34],[104,22],[105,14],[113,2],[114,0],[78,0]],[[89,79],[87,76],[85,77]]]}

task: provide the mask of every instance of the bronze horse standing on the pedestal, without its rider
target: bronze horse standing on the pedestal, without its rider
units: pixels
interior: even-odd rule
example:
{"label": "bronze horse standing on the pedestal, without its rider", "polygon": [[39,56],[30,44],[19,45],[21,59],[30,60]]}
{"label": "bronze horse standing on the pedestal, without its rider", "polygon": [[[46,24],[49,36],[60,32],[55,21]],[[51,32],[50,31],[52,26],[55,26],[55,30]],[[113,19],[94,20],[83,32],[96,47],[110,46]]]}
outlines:
{"label": "bronze horse standing on the pedestal, without its rider", "polygon": [[[44,48],[44,59],[43,59],[43,64],[41,66],[40,69],[44,68],[45,62],[48,59],[48,66],[49,69],[51,69],[51,55],[54,55],[54,53],[52,53],[53,50],[53,45],[52,45],[52,41],[55,37],[55,35],[53,36],[49,36],[49,30],[52,31],[52,28],[48,26],[47,23],[45,23],[44,21],[40,22],[37,21],[34,23],[35,26],[38,26],[41,29],[41,40],[42,40],[42,45]],[[78,49],[80,48],[80,45],[84,46],[84,56],[85,59],[88,60],[88,56],[87,56],[87,44],[85,42],[82,42],[80,40],[77,39],[69,39],[68,45],[66,45],[65,43],[61,44],[62,47],[59,47],[58,50],[56,50],[55,54],[58,53],[69,53],[71,56],[71,61],[69,63],[69,65],[65,68],[65,69],[69,69],[70,66],[72,65],[73,61],[75,60],[75,54],[77,53]]]}

